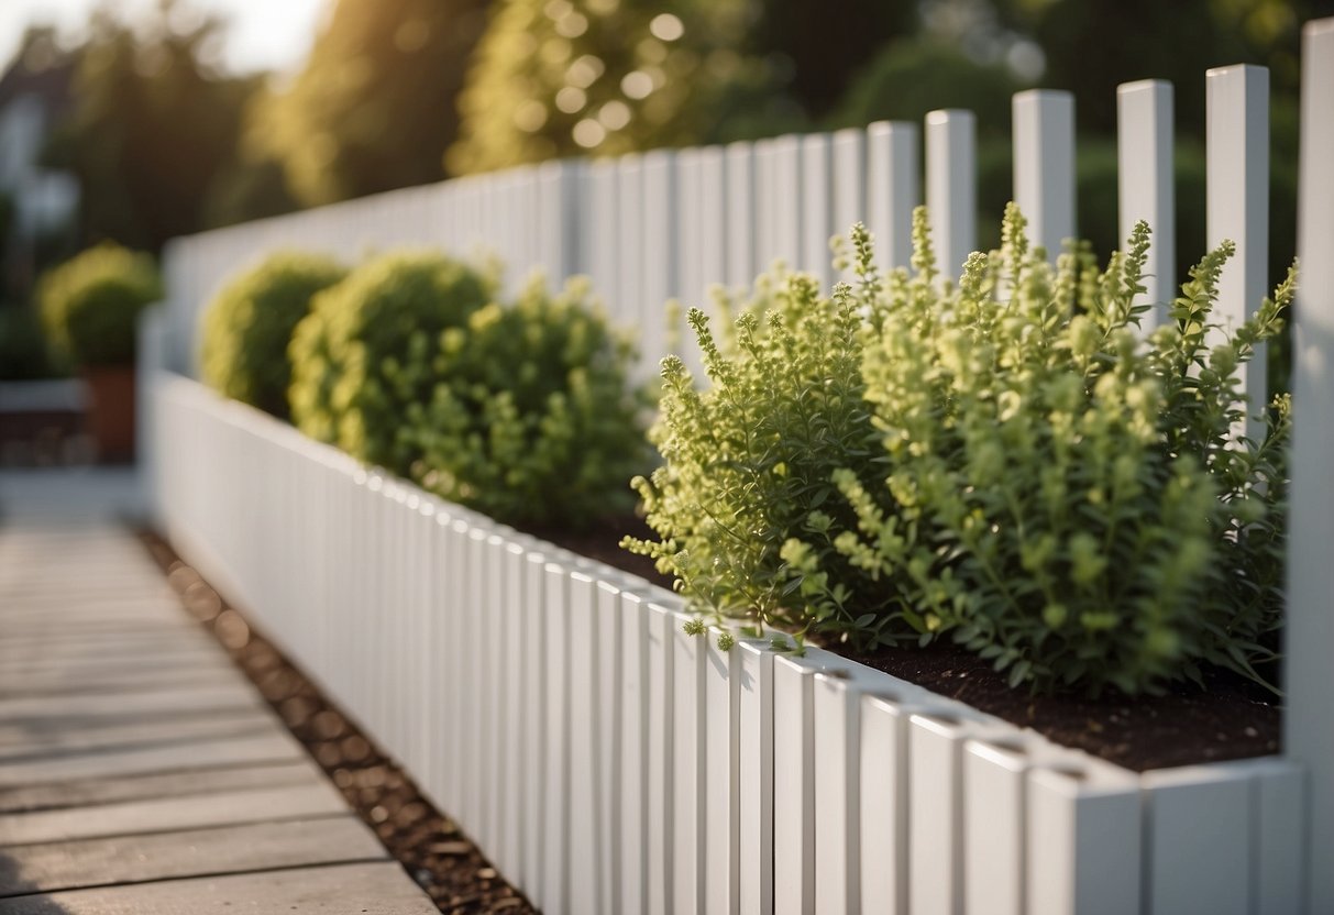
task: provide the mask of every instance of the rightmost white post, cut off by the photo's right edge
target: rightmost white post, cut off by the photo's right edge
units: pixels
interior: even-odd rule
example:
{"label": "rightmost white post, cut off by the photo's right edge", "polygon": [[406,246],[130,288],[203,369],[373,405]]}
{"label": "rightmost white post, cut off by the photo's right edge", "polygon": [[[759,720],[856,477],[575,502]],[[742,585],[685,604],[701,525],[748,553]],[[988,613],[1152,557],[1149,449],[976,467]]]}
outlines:
{"label": "rightmost white post, cut off by the photo's right edge", "polygon": [[[1293,327],[1287,711],[1283,746],[1310,774],[1307,911],[1334,911],[1334,19],[1306,25]],[[1318,856],[1317,856],[1318,855]]]}

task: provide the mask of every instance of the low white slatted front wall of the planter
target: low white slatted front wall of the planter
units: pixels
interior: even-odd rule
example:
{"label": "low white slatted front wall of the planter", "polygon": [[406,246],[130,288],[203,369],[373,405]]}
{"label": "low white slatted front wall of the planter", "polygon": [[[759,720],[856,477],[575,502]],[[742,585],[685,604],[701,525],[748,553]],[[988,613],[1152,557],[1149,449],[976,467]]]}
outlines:
{"label": "low white slatted front wall of the planter", "polygon": [[680,602],[164,372],[160,523],[548,915],[1301,912],[1302,774],[1135,775]]}

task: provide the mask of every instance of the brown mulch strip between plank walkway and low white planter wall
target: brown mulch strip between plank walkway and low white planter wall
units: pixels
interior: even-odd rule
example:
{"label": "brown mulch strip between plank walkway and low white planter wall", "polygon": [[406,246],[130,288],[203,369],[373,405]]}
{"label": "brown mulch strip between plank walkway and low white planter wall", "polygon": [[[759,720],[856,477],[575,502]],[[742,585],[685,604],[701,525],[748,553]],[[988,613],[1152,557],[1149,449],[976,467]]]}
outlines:
{"label": "brown mulch strip between plank walkway and low white planter wall", "polygon": [[249,627],[161,538],[140,531],[185,610],[213,634],[408,875],[442,912],[536,912],[412,779]]}

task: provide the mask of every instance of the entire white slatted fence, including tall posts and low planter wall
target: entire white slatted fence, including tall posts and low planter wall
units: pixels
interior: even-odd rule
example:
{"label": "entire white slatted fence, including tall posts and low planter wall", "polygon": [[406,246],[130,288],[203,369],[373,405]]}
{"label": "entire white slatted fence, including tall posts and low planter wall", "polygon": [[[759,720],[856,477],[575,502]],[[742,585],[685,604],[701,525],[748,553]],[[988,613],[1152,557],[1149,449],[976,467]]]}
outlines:
{"label": "entire white slatted fence, including tall posts and low planter wall", "polygon": [[[902,264],[919,157],[936,249],[962,261],[968,112],[547,163],[176,240],[143,347],[159,515],[548,912],[1334,911],[1315,856],[1334,847],[1334,20],[1309,24],[1303,48],[1283,758],[1142,778],[1081,759],[1071,778],[1065,751],[831,655],[723,655],[680,634],[664,592],[152,371],[189,372],[200,309],[272,248],[484,244],[590,273],[642,328],[647,375],[670,296],[700,303],[704,283],[748,283],[778,256],[826,271],[822,239],[854,219]],[[1126,84],[1118,101],[1119,224],[1154,228],[1146,296],[1162,299],[1171,87]],[[1263,287],[1267,77],[1211,71],[1207,101],[1209,241],[1239,244],[1235,323]],[[1054,249],[1077,228],[1069,99],[1023,95],[1015,123],[1017,193]]]}

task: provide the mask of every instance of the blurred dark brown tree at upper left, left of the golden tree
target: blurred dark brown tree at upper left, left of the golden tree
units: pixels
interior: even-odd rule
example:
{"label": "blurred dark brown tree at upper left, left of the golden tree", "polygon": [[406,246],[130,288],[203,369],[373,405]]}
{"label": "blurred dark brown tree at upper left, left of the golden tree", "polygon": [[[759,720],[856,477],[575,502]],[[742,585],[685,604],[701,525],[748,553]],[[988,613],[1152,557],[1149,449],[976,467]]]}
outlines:
{"label": "blurred dark brown tree at upper left, left of the golden tree", "polygon": [[212,184],[235,160],[259,77],[220,76],[208,63],[220,23],[177,9],[167,0],[136,32],[103,7],[76,51],[73,109],[44,159],[77,176],[85,241],[157,251],[199,231]]}

